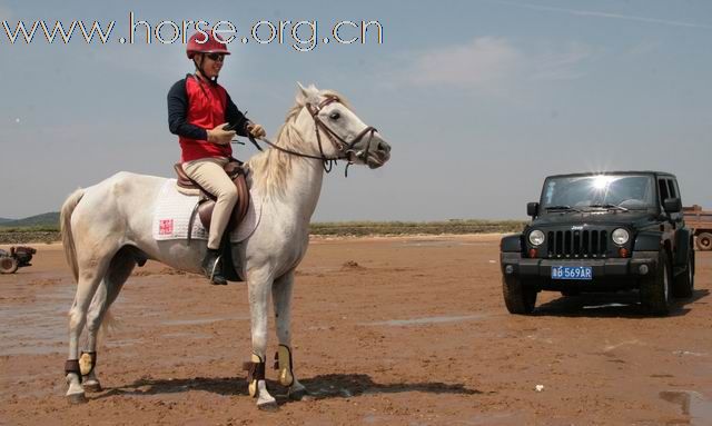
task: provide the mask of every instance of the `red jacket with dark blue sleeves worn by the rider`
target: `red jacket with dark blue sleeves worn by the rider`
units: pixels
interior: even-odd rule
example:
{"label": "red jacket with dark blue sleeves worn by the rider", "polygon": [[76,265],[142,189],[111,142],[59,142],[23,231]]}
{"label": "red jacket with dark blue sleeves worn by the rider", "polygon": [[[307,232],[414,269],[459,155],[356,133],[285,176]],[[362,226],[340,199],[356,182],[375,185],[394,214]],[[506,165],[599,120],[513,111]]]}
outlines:
{"label": "red jacket with dark blue sleeves worn by the rider", "polygon": [[178,136],[180,162],[208,157],[231,157],[233,147],[208,141],[208,130],[228,122],[247,136],[250,121],[237,109],[222,86],[188,75],[168,91],[168,128]]}

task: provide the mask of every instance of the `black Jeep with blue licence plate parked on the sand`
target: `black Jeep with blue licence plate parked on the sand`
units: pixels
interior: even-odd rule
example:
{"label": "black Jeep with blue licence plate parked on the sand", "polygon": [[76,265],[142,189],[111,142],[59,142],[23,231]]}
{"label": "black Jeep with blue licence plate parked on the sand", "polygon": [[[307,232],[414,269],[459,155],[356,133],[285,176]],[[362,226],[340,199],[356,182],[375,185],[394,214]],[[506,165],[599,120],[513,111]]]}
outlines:
{"label": "black Jeep with blue licence plate parked on the sand", "polygon": [[693,236],[676,178],[657,171],[551,176],[522,234],[501,242],[507,310],[531,314],[541,290],[639,289],[643,309],[670,311],[694,286]]}

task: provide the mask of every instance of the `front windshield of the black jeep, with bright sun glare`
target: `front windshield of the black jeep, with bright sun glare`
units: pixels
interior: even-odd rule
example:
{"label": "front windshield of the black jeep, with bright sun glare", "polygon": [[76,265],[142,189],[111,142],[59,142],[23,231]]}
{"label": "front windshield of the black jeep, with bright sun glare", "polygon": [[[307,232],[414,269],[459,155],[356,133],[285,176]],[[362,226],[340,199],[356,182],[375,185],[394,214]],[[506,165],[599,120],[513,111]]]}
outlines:
{"label": "front windshield of the black jeep, with bright sun glare", "polygon": [[643,175],[551,177],[541,205],[548,212],[644,210],[655,206],[655,186]]}

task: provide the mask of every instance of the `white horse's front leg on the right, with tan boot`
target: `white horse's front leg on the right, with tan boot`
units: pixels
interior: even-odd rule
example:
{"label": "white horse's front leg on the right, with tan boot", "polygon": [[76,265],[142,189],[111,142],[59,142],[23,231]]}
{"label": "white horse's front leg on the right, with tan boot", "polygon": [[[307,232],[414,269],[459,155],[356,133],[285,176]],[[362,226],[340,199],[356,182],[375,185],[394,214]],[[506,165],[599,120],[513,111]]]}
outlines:
{"label": "white horse's front leg on the right, with tan boot", "polygon": [[279,371],[279,383],[289,388],[289,398],[300,400],[307,396],[307,389],[294,375],[294,357],[291,349],[291,288],[294,270],[275,280],[273,303],[275,307],[275,325],[279,348],[275,355],[275,368]]}

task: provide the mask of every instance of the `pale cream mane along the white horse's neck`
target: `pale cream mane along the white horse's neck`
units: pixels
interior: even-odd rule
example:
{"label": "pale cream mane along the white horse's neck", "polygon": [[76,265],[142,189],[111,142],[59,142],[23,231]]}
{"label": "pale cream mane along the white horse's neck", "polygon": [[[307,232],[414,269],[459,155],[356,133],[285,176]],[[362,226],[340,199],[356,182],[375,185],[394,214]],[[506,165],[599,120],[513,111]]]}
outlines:
{"label": "pale cream mane along the white horse's neck", "polygon": [[[309,86],[307,90],[310,90],[312,93],[307,96],[304,93],[297,95],[295,105],[287,112],[285,122],[279,127],[274,140],[274,143],[278,147],[304,151],[304,140],[296,128],[296,121],[299,112],[308,101],[318,103],[319,99],[324,97],[334,97],[346,108],[352,109],[348,100],[334,90],[317,90],[314,86]],[[256,186],[263,196],[275,196],[284,194],[293,162],[299,160],[305,161],[308,159],[269,148],[247,160],[245,167],[253,175],[251,184]]]}

